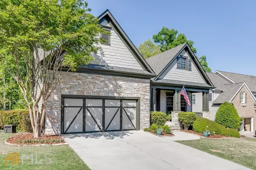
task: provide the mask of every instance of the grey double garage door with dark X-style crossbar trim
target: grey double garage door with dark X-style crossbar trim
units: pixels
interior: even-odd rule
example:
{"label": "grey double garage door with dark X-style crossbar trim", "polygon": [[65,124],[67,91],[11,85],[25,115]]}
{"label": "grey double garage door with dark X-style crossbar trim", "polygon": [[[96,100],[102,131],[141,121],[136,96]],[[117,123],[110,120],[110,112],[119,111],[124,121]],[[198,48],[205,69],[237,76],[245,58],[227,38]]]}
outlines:
{"label": "grey double garage door with dark X-style crossbar trim", "polygon": [[139,130],[139,99],[62,97],[61,133]]}

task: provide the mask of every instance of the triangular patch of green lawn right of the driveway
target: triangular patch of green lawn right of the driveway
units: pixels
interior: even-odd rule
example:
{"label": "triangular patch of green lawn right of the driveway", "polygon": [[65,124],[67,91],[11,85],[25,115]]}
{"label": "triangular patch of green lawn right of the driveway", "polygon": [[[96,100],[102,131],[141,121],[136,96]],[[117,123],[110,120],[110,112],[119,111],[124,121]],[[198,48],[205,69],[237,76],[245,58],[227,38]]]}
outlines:
{"label": "triangular patch of green lawn right of the driveway", "polygon": [[176,141],[256,170],[256,140],[239,138]]}

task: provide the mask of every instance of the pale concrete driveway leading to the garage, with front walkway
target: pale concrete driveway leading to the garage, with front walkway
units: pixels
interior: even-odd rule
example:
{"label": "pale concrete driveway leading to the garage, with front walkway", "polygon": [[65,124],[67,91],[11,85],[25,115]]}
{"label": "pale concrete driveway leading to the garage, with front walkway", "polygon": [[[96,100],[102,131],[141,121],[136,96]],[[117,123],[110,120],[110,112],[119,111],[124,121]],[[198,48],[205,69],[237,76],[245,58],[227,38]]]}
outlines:
{"label": "pale concrete driveway leading to the garage, with front walkway", "polygon": [[189,133],[159,137],[144,131],[119,131],[63,137],[91,170],[249,170],[174,142],[200,138]]}

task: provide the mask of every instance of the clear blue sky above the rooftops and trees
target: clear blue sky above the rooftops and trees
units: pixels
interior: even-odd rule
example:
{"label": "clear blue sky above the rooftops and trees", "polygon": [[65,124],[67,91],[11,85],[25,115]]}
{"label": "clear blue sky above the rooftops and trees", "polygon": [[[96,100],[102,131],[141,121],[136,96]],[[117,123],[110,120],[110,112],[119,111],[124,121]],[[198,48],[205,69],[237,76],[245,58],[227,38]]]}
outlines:
{"label": "clear blue sky above the rooftops and trees", "polygon": [[193,40],[212,71],[256,76],[256,0],[87,0],[98,16],[109,9],[136,45],[163,26]]}

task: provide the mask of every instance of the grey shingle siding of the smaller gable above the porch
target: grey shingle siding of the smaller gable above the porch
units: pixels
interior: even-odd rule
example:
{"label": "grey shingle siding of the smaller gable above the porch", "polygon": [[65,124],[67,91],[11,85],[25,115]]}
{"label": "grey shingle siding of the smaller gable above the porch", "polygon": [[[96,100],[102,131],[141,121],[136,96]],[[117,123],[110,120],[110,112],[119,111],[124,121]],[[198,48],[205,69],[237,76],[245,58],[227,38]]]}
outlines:
{"label": "grey shingle siding of the smaller gable above the porch", "polygon": [[[186,64],[188,65],[188,60],[191,59],[189,54],[183,50],[178,56],[186,56],[188,59],[186,60]],[[204,78],[198,72],[198,69],[195,66],[195,63],[191,59],[191,71],[183,70],[177,68],[177,59],[175,59],[171,65],[160,75],[159,79],[171,79],[171,80],[180,80],[185,82],[198,82],[198,83],[206,83]]]}

